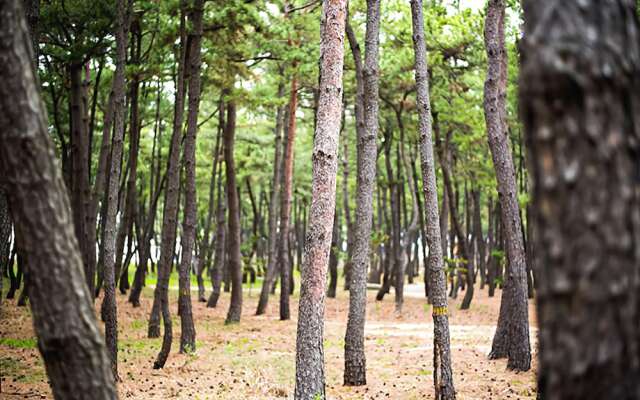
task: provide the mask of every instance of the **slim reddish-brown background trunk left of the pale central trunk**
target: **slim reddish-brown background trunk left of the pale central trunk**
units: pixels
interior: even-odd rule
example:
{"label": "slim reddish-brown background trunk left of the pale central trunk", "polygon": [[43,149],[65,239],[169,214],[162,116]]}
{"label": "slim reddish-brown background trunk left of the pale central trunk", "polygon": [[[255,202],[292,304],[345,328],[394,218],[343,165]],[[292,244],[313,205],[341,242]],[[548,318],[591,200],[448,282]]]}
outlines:
{"label": "slim reddish-brown background trunk left of the pale central trunk", "polygon": [[[298,80],[294,75],[291,80],[291,94],[289,99],[289,121],[287,122],[287,140],[284,150],[284,165],[282,187],[280,189],[280,239],[278,241],[278,264],[280,269],[280,320],[290,318],[289,294],[291,285],[292,263],[289,260],[291,247],[289,233],[291,223],[291,192],[293,188],[293,151],[296,140],[296,109],[298,108]],[[329,235],[331,240],[331,235]]]}

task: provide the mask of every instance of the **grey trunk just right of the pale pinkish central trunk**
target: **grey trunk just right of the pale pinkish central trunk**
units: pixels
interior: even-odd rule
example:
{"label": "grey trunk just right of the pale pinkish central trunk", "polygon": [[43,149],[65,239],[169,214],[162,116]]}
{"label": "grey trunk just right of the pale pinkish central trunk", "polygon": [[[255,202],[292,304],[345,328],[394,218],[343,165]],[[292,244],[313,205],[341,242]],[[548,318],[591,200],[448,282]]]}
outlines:
{"label": "grey trunk just right of the pale pinkish central trunk", "polygon": [[[371,224],[373,221],[373,191],[376,184],[376,138],[378,137],[378,53],[380,32],[380,1],[367,1],[367,30],[365,36],[364,68],[360,49],[353,31],[347,37],[356,64],[356,134],[357,188],[356,224],[349,284],[349,314],[344,341],[344,384],[360,386],[367,383],[364,352],[364,322],[367,306],[367,269],[371,253]],[[358,115],[358,114],[364,115]],[[363,121],[358,118],[364,117]],[[364,123],[364,126],[358,126]]]}

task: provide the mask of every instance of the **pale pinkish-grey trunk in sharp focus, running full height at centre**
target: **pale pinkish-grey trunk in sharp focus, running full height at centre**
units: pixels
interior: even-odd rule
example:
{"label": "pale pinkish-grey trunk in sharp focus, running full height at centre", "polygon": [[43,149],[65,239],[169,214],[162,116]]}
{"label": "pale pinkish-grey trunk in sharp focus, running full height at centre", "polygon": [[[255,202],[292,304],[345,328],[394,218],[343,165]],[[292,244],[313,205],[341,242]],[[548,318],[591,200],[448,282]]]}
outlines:
{"label": "pale pinkish-grey trunk in sharp focus, running full height at centre", "polygon": [[294,397],[304,400],[325,398],[324,296],[336,201],[346,3],[325,0],[320,23],[320,98],[296,337]]}

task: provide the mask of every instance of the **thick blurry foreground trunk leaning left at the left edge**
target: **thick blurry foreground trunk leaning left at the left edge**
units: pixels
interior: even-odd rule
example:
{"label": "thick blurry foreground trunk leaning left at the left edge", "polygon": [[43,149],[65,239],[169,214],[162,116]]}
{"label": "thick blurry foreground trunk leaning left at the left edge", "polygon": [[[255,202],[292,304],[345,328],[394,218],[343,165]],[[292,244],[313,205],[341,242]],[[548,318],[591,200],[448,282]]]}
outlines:
{"label": "thick blurry foreground trunk leaning left at the left edge", "polygon": [[38,348],[56,399],[116,399],[20,3],[0,3],[0,185],[26,249]]}

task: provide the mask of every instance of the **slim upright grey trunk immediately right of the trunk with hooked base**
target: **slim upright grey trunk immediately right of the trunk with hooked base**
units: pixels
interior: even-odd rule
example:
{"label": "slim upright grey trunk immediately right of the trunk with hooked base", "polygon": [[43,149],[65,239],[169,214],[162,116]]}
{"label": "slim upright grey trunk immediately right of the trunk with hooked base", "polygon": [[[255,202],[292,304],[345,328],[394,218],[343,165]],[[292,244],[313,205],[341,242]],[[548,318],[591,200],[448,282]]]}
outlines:
{"label": "slim upright grey trunk immediately right of the trunk with hooked base", "polygon": [[[180,310],[180,352],[196,350],[196,328],[191,311],[191,264],[196,243],[196,134],[200,109],[200,43],[202,41],[202,14],[204,0],[195,0],[190,13],[191,33],[189,40],[189,110],[187,134],[184,140],[182,166],[185,171],[184,221],[182,224],[182,256],[180,257],[180,279],[178,309]],[[185,66],[187,68],[187,66]]]}

